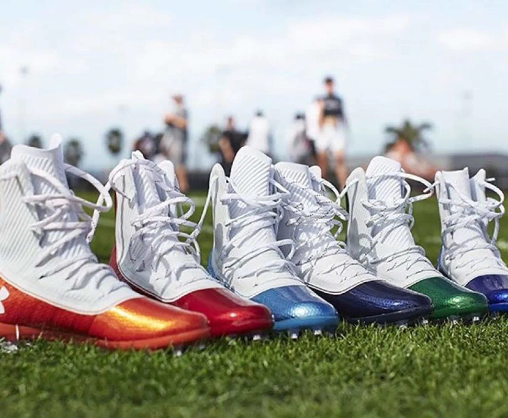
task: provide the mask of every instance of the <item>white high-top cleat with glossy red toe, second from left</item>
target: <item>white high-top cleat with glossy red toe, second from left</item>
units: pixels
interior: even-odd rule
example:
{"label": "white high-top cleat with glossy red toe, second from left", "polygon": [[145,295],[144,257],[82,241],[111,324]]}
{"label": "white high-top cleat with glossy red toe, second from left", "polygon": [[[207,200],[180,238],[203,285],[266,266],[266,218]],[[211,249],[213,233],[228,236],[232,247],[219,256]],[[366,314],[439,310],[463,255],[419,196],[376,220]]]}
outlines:
{"label": "white high-top cleat with glossy red toe, second from left", "polygon": [[116,192],[110,266],[121,280],[168,306],[204,314],[214,337],[272,328],[269,309],[227,290],[200,265],[200,228],[188,220],[196,206],[179,191],[171,162],[156,165],[133,152],[111,172],[109,187]]}

